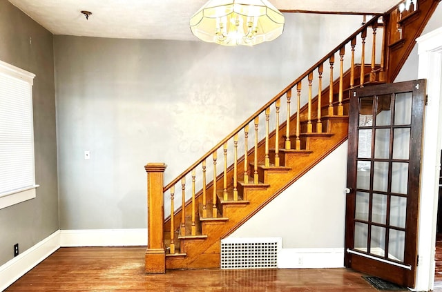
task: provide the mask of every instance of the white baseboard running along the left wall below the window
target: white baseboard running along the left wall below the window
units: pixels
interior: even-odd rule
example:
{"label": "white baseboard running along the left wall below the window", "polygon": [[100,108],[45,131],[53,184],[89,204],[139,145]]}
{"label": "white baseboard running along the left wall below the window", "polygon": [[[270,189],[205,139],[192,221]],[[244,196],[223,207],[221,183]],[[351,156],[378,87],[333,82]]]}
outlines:
{"label": "white baseboard running along the left wall below the window", "polygon": [[30,249],[0,266],[0,291],[8,288],[60,247],[60,231],[55,231]]}

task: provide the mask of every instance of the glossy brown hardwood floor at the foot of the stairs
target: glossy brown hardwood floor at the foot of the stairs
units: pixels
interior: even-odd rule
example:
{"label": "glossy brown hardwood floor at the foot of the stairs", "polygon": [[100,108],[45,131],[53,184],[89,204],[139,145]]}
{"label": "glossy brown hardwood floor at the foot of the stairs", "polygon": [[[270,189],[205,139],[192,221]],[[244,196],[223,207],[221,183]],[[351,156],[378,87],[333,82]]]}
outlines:
{"label": "glossy brown hardwood floor at the foot of the stairs", "polygon": [[61,248],[6,291],[376,291],[350,269],[144,273],[144,247]]}

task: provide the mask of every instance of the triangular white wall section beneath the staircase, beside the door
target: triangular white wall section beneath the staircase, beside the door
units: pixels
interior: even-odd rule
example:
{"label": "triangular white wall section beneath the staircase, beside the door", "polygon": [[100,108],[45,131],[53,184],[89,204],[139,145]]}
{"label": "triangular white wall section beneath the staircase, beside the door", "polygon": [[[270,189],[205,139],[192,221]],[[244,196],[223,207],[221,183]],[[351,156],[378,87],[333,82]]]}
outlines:
{"label": "triangular white wall section beneath the staircase, beside the door", "polygon": [[283,249],[343,248],[347,146],[336,148],[230,237],[282,237]]}

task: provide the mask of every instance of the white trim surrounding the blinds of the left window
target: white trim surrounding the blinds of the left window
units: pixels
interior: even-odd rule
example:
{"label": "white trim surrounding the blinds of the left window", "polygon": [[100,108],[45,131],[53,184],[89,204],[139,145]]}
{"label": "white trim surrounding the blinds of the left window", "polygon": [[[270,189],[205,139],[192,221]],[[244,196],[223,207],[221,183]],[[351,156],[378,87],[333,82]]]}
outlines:
{"label": "white trim surrounding the blinds of the left window", "polygon": [[[31,87],[30,99],[31,99],[31,104],[32,104],[32,86],[34,85],[35,74],[28,72],[26,70],[23,70],[21,68],[18,68],[16,66],[10,65],[10,64],[8,64],[4,61],[1,61],[1,60],[0,60],[0,74],[26,81],[29,84],[29,86]],[[31,117],[33,119],[32,109],[31,109]],[[33,124],[34,124],[34,122],[32,121],[32,141],[34,139]],[[34,148],[34,153],[33,153],[33,157],[32,157],[33,162],[34,162],[34,168],[32,170],[34,173],[34,185],[28,186],[25,188],[19,188],[17,190],[9,191],[6,193],[2,193],[0,195],[0,209],[15,205],[15,204],[19,204],[21,202],[27,201],[28,199],[33,199],[36,197],[36,188],[39,187],[39,185],[35,184],[35,144],[34,144],[34,142],[32,142],[32,146]]]}

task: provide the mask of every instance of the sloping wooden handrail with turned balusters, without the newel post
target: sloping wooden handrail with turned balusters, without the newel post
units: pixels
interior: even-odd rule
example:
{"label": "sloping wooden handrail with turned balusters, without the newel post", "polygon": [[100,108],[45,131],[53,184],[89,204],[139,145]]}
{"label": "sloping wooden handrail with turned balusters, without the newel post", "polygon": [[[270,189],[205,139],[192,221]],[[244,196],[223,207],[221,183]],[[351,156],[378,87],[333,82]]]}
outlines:
{"label": "sloping wooden handrail with turned balusters, without the newel post", "polygon": [[[304,74],[300,75],[298,79],[293,81],[289,86],[283,89],[278,95],[273,97],[267,104],[256,111],[249,119],[244,121],[238,128],[233,130],[227,137],[216,144],[209,152],[203,155],[189,168],[183,171],[169,184],[164,186],[163,193],[170,193],[171,201],[173,202],[175,196],[175,185],[181,184],[182,187],[182,204],[177,210],[171,204],[171,240],[175,238],[175,230],[180,228],[180,235],[197,235],[195,226],[195,214],[199,212],[198,205],[201,204],[202,217],[220,216],[217,208],[217,200],[233,200],[247,199],[238,196],[238,182],[240,184],[259,184],[258,181],[258,165],[263,162],[264,167],[278,167],[280,166],[279,153],[281,150],[302,150],[300,135],[302,131],[313,133],[314,129],[317,133],[323,131],[323,124],[321,118],[323,113],[325,115],[344,115],[344,92],[345,89],[353,88],[354,86],[363,86],[365,81],[376,81],[376,76],[382,75],[384,70],[383,64],[376,65],[376,57],[383,52],[379,46],[376,46],[376,32],[378,30],[380,17],[376,16],[367,21],[364,26],[359,28],[353,35],[345,39],[334,50],[325,55],[323,59],[316,62]],[[372,50],[368,52],[365,48],[367,42],[367,30],[372,28]],[[359,39],[359,41],[357,41]],[[355,47],[358,44],[358,50]],[[351,61],[347,61],[349,71],[351,72],[349,82],[344,80],[345,67],[345,47],[351,48]],[[359,58],[357,57],[359,52]],[[334,57],[339,56],[338,66],[339,73],[337,81],[334,80]],[[368,56],[366,56],[368,55]],[[371,64],[365,66],[365,58],[371,58]],[[361,64],[356,64],[356,60],[361,60]],[[324,72],[324,67],[329,66],[329,72]],[[356,77],[356,71],[359,71]],[[314,79],[316,75],[316,79]],[[323,77],[329,76],[329,85],[325,90],[323,89]],[[366,75],[368,77],[366,77]],[[315,84],[314,80],[317,82]],[[302,83],[307,83],[308,90],[302,98]],[[337,84],[336,84],[337,83]],[[327,85],[327,84],[326,84]],[[314,98],[314,89],[317,97]],[[295,95],[293,102],[292,95]],[[316,94],[315,94],[316,95]],[[323,100],[323,97],[328,95],[328,101]],[[335,95],[337,95],[337,100]],[[285,97],[287,102],[282,111],[282,99]],[[302,101],[307,99],[305,106],[301,108]],[[291,104],[294,103],[294,112]],[[285,115],[281,115],[281,111]],[[301,119],[304,117],[302,113],[307,113],[307,127],[305,129],[301,126]],[[270,115],[272,117],[272,126],[270,125]],[[282,124],[280,121],[282,120]],[[316,123],[316,127],[313,124]],[[252,128],[252,133],[249,132]],[[263,130],[261,130],[263,129]],[[252,135],[253,134],[253,135]],[[253,136],[253,140],[249,139]],[[261,141],[261,137],[264,137]],[[238,140],[240,140],[241,150],[238,150]],[[253,146],[249,148],[249,144]],[[232,148],[233,145],[233,148]],[[282,149],[280,149],[282,148]],[[273,149],[273,150],[271,150]],[[228,155],[233,153],[231,161],[233,165],[228,167]],[[218,154],[221,154],[220,157]],[[242,155],[238,159],[239,155]],[[221,159],[219,159],[221,158]],[[221,160],[221,161],[219,161]],[[219,171],[222,165],[222,171]],[[207,166],[211,166],[208,170]],[[213,181],[206,184],[206,175],[210,173],[213,176]],[[195,193],[195,177],[200,177],[201,191]],[[188,201],[186,197],[186,177],[191,177],[191,200]],[[218,194],[218,190],[222,194]],[[219,195],[219,196],[218,196]],[[189,196],[190,197],[190,196]],[[189,213],[189,214],[187,214]],[[180,222],[177,224],[175,217],[180,217]],[[186,224],[186,218],[189,217],[189,224]],[[191,226],[191,230],[189,229]],[[173,249],[171,249],[171,253]]]}

